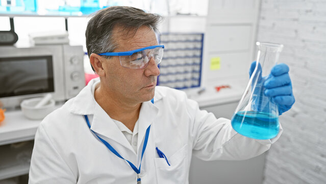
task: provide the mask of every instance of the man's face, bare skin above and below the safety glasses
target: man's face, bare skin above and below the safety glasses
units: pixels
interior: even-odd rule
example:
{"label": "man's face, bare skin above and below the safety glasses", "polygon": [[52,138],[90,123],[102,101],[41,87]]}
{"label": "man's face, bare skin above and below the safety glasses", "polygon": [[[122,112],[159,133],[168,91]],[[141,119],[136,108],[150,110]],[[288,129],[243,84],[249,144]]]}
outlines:
{"label": "man's face, bare skin above and below the safety glasses", "polygon": [[[113,35],[118,48],[113,52],[132,51],[144,47],[158,45],[153,29],[146,26],[139,28],[132,38],[123,38],[122,29],[114,28]],[[152,57],[146,68],[134,69],[120,65],[119,56],[113,56],[104,62],[106,72],[105,85],[108,86],[115,98],[130,102],[145,102],[154,97],[157,76],[160,70]],[[122,100],[121,99],[121,100]]]}

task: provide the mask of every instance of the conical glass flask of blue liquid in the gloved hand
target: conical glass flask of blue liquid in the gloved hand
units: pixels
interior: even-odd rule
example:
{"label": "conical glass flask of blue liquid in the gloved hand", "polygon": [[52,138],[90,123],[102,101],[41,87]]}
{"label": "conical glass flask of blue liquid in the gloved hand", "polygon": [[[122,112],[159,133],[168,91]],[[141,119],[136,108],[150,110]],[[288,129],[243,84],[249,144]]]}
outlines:
{"label": "conical glass flask of blue liquid in the gloved hand", "polygon": [[255,70],[233,114],[231,124],[238,133],[259,140],[279,133],[279,110],[271,97],[264,94],[264,82],[277,64],[283,44],[257,42]]}

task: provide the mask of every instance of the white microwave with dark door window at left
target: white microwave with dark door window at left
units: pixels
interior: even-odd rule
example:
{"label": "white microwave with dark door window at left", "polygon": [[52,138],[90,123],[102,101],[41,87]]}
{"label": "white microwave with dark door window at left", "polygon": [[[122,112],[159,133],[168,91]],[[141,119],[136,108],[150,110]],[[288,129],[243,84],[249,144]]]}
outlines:
{"label": "white microwave with dark door window at left", "polygon": [[22,100],[51,94],[57,102],[85,86],[82,46],[0,47],[0,103],[18,107]]}

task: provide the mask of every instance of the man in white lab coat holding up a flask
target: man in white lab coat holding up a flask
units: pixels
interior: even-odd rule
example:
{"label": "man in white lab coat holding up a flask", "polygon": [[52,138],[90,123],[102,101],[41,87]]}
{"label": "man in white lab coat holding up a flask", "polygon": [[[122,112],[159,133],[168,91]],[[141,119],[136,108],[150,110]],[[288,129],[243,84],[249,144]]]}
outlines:
{"label": "man in white lab coat holding up a flask", "polygon": [[[137,8],[110,7],[88,22],[87,51],[99,79],[40,124],[30,183],[188,183],[192,154],[247,159],[279,138],[282,130],[271,140],[249,139],[230,120],[199,110],[182,91],[156,87],[160,19]],[[287,110],[294,103],[290,92],[278,93],[293,100],[280,102]]]}

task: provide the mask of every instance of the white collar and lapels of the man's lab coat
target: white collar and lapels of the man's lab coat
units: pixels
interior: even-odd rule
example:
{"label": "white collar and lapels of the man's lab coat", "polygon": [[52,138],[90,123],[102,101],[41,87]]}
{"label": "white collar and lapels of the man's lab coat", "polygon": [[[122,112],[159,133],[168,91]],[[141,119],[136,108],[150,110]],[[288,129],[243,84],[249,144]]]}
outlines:
{"label": "white collar and lapels of the man's lab coat", "polygon": [[[91,115],[94,114],[93,120],[91,123],[91,129],[103,136],[108,137],[121,144],[122,146],[134,151],[126,137],[113,122],[110,116],[105,112],[105,110],[99,106],[92,94],[92,86],[99,82],[99,78],[92,79],[89,81],[87,86],[85,86],[81,92],[73,99],[71,99],[71,105],[69,111],[74,114],[80,115]],[[163,98],[162,93],[155,90],[154,104],[151,101],[143,102],[139,112],[139,122],[138,122],[138,140],[137,148],[138,152],[141,151],[139,147],[142,145],[146,129],[152,122],[155,120],[159,109],[156,107],[156,103]]]}

